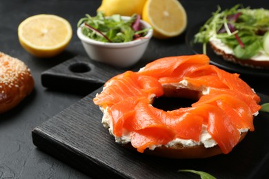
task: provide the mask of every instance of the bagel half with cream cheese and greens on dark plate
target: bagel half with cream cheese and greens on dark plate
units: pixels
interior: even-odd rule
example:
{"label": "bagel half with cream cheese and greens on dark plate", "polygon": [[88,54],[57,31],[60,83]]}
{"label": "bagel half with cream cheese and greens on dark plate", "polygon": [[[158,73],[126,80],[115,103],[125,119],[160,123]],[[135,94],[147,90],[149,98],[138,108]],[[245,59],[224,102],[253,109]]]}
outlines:
{"label": "bagel half with cream cheese and greens on dark plate", "polygon": [[195,43],[206,44],[223,60],[254,68],[269,68],[269,10],[240,4],[221,10],[195,34]]}

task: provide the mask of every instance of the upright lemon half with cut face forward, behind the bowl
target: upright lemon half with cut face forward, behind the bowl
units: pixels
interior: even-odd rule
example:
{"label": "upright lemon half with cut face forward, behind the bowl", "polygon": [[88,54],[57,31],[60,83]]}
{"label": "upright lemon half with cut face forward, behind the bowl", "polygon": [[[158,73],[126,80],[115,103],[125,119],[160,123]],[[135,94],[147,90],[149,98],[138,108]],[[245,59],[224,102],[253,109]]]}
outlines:
{"label": "upright lemon half with cut face forward, behind the bowl", "polygon": [[187,14],[177,0],[148,0],[142,19],[152,25],[153,36],[167,39],[181,34],[187,25]]}

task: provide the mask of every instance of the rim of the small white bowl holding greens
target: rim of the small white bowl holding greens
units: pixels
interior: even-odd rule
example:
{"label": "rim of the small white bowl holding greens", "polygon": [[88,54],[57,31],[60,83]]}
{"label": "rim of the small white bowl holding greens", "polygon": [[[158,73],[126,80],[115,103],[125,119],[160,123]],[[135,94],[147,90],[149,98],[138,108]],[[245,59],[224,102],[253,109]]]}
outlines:
{"label": "rim of the small white bowl holding greens", "polygon": [[[123,20],[130,19],[130,17],[121,16],[121,19],[123,19]],[[84,34],[82,34],[81,27],[77,28],[77,36],[79,36],[79,39],[81,39],[81,41],[84,41],[86,43],[91,43],[94,45],[102,45],[102,46],[107,46],[107,47],[111,47],[111,48],[112,47],[119,48],[119,47],[128,47],[128,46],[132,46],[132,45],[138,45],[140,43],[143,43],[144,41],[148,41],[152,37],[152,34],[153,34],[152,27],[149,23],[147,23],[146,21],[143,21],[142,19],[140,19],[140,23],[142,23],[145,28],[150,28],[150,29],[148,30],[148,33],[146,34],[146,36],[143,36],[142,38],[136,39],[134,41],[121,42],[121,43],[95,41],[93,39],[90,39],[88,36],[85,36]]]}

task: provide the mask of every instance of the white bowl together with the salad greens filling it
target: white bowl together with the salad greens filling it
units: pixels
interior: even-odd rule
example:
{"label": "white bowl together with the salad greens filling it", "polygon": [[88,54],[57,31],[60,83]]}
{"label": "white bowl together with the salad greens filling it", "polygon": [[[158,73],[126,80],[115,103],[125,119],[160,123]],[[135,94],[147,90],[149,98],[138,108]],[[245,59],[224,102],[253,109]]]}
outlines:
{"label": "white bowl together with the salad greens filling it", "polygon": [[130,67],[141,59],[153,30],[140,16],[114,14],[96,17],[86,14],[77,24],[77,36],[90,59],[115,67]]}

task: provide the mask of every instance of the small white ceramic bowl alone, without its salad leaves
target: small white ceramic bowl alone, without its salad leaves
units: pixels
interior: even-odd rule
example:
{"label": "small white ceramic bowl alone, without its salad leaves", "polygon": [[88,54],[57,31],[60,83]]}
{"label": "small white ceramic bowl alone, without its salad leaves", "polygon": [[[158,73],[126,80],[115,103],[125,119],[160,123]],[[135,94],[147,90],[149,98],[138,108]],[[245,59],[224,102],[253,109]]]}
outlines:
{"label": "small white ceramic bowl alone, without its salad leaves", "polygon": [[[121,17],[123,20],[128,20],[130,17]],[[140,21],[143,28],[150,28],[145,38],[124,43],[108,43],[95,41],[83,35],[81,28],[77,29],[77,36],[81,39],[83,48],[86,50],[90,59],[108,63],[115,67],[130,67],[141,59],[148,43],[152,37],[153,30],[145,21]]]}

